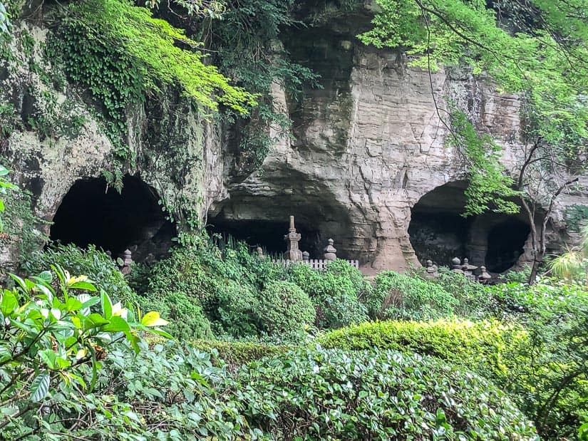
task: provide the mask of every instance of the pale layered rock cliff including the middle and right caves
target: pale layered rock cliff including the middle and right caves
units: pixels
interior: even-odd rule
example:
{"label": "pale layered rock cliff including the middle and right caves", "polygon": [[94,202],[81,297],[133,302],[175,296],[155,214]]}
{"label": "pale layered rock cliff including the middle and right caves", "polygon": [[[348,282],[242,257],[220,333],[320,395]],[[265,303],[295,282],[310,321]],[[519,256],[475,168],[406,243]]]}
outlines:
{"label": "pale layered rock cliff including the middle and right caves", "polygon": [[[254,222],[285,231],[294,214],[303,240],[309,236],[302,247],[318,254],[333,237],[338,255],[359,259],[366,272],[428,258],[448,264],[451,256],[500,272],[530,259],[522,215],[460,217],[465,169],[445,145],[442,120],[448,100],[467,109],[505,148],[512,169],[522,147],[520,100],[467,73],[430,76],[407,68],[401,54],[361,45],[354,37],[361,23],[352,17],[284,39],[296,61],[320,73],[323,87],[305,90],[300,102],[275,88],[277,105],[294,121],[294,140],[279,142],[262,170],[230,185],[229,199],[212,204],[211,222],[232,232]],[[559,200],[554,248],[562,240],[563,207],[586,202],[585,190]],[[251,239],[276,249],[259,234]]]}

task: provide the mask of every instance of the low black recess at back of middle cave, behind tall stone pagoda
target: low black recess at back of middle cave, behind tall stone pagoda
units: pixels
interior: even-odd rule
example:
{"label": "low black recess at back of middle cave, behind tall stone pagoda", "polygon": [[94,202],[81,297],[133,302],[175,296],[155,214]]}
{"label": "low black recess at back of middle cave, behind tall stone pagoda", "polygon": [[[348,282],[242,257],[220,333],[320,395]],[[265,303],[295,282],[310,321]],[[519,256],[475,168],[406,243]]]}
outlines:
{"label": "low black recess at back of middle cave, behind tall stone pagoda", "polygon": [[[246,242],[249,247],[262,247],[264,254],[281,257],[287,249],[287,242],[284,241],[284,235],[288,234],[289,219],[284,222],[262,219],[224,219],[215,217],[209,220],[207,232],[209,234],[221,234],[230,236],[242,242]],[[319,257],[322,249],[326,244],[321,237],[318,229],[308,227],[304,222],[296,220],[296,232],[301,234],[298,243],[301,251],[309,251],[311,257]]]}

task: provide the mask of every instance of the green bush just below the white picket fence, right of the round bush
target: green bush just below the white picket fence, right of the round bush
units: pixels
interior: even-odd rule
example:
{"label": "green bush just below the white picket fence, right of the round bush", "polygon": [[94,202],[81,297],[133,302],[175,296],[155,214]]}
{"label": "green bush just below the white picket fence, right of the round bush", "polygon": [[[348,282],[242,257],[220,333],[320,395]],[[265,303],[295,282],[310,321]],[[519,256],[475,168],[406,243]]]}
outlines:
{"label": "green bush just below the white picket fence, right of the round bush", "polygon": [[287,280],[308,294],[316,308],[319,328],[341,328],[367,319],[360,300],[369,285],[361,272],[344,260],[331,262],[323,272],[304,264],[292,265]]}

